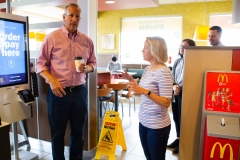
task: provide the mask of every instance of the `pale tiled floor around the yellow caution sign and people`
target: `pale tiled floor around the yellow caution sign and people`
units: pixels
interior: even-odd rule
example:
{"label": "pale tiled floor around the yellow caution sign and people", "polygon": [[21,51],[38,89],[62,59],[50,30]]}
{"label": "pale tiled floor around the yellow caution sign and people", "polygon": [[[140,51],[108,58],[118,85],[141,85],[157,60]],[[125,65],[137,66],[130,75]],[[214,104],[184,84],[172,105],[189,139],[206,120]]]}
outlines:
{"label": "pale tiled floor around the yellow caution sign and people", "polygon": [[[124,129],[125,140],[127,143],[127,151],[123,151],[121,146],[117,146],[115,159],[116,160],[145,160],[145,156],[142,150],[142,146],[140,143],[139,135],[138,135],[138,109],[140,98],[136,97],[136,111],[133,110],[133,105],[131,108],[131,116],[129,117],[129,107],[128,101],[122,100],[124,104],[124,117],[122,119],[122,126]],[[120,109],[121,110],[121,109]],[[169,113],[172,120],[172,112],[171,107],[169,107]],[[121,114],[121,112],[120,112]],[[172,129],[170,133],[170,137],[168,142],[171,143],[176,138],[175,126],[172,120]],[[19,136],[19,139],[22,137]],[[52,160],[51,154],[51,143],[46,141],[37,140],[34,138],[29,138],[31,149],[30,152],[38,155],[40,160]],[[23,146],[19,149],[19,151],[26,150],[27,147]],[[68,147],[65,147],[65,157],[68,160],[69,152]],[[84,151],[84,160],[95,160],[93,157],[95,155],[95,150],[92,152]],[[12,159],[14,156],[12,155]],[[101,156],[102,160],[107,160],[107,156]],[[26,159],[27,160],[27,159]],[[166,152],[166,160],[178,160],[178,155],[172,154],[171,150],[167,150]]]}

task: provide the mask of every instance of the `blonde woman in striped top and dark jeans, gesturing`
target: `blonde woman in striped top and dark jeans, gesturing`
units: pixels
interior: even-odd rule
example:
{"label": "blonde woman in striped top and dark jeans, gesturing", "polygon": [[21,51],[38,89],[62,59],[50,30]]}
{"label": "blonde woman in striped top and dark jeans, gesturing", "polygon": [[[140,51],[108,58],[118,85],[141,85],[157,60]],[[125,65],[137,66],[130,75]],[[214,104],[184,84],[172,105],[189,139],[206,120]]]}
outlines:
{"label": "blonde woman in striped top and dark jeans, gesturing", "polygon": [[165,160],[171,128],[168,107],[172,99],[173,78],[164,64],[168,60],[166,42],[161,37],[147,37],[142,50],[150,66],[144,69],[140,84],[127,74],[129,90],[141,95],[139,135],[147,160]]}

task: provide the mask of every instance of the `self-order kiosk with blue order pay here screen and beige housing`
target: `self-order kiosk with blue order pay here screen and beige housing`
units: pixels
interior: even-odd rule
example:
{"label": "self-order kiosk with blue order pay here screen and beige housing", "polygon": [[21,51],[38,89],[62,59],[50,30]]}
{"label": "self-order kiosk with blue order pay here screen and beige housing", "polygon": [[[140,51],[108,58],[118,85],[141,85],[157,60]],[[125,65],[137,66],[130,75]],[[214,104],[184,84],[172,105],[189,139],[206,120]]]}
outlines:
{"label": "self-order kiosk with blue order pay here screen and beige housing", "polygon": [[24,100],[34,100],[27,91],[30,86],[28,19],[0,12],[0,116],[3,121],[13,123],[31,117],[31,107],[24,104]]}

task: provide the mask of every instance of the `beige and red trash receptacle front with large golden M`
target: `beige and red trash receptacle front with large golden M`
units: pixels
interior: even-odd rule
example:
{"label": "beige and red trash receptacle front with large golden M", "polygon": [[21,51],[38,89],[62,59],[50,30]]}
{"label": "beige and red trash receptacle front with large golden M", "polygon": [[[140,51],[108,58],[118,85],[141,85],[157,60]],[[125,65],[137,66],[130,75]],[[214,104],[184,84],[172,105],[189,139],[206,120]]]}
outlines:
{"label": "beige and red trash receptacle front with large golden M", "polygon": [[239,118],[207,115],[203,146],[203,160],[239,160]]}

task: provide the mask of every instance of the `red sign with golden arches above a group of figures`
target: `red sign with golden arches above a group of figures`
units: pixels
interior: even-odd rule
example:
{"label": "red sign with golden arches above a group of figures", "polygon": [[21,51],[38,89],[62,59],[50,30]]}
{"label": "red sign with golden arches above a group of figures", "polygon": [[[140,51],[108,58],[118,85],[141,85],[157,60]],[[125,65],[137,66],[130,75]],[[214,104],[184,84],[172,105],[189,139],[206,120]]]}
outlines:
{"label": "red sign with golden arches above a group of figures", "polygon": [[205,109],[240,112],[240,72],[207,72]]}

